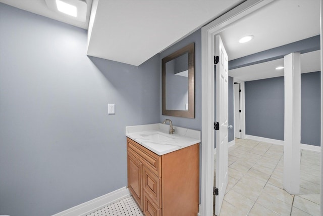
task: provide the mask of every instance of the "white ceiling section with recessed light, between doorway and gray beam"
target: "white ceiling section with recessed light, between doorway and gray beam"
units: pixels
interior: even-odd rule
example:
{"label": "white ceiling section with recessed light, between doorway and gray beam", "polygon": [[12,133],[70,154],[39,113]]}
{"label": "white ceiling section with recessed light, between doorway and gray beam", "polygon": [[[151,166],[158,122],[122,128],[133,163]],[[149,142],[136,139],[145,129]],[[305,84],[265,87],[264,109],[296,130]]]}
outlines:
{"label": "white ceiling section with recessed light, between doorway and gray beam", "polygon": [[[276,0],[220,33],[229,60],[320,34],[320,0]],[[245,44],[246,35],[254,38]]]}

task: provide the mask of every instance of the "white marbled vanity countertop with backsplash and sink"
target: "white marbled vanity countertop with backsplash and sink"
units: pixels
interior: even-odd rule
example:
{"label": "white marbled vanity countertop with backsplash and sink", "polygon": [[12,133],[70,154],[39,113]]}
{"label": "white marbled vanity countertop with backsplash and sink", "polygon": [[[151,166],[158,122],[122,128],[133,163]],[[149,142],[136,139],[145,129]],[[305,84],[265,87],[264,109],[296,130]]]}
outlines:
{"label": "white marbled vanity countertop with backsplash and sink", "polygon": [[174,134],[169,134],[169,124],[144,124],[126,126],[126,136],[150,151],[164,155],[201,142],[201,132],[174,126]]}

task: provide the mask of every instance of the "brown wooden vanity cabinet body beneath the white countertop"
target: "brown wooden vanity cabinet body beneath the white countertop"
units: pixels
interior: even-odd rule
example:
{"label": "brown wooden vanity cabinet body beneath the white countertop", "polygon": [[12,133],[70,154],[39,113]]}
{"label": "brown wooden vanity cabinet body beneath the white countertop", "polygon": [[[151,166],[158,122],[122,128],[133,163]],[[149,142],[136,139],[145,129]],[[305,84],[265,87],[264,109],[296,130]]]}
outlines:
{"label": "brown wooden vanity cabinet body beneath the white countertop", "polygon": [[157,155],[127,138],[128,188],[146,216],[196,216],[199,144]]}

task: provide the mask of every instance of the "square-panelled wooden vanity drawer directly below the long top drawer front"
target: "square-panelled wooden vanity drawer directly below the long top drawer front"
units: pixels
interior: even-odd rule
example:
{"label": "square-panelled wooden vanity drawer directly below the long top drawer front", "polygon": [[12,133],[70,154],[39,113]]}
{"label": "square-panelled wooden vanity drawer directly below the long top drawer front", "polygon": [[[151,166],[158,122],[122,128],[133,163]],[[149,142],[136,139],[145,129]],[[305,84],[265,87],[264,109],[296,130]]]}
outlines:
{"label": "square-panelled wooden vanity drawer directly below the long top drawer front", "polygon": [[156,177],[147,167],[143,166],[143,189],[152,201],[161,207],[161,179]]}

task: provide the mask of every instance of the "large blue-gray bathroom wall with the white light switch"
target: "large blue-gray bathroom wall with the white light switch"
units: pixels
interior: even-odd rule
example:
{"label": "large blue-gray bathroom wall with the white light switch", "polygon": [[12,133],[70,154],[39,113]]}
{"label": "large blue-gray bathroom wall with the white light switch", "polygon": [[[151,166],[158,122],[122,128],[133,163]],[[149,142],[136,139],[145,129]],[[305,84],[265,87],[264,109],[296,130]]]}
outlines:
{"label": "large blue-gray bathroom wall with the white light switch", "polygon": [[51,215],[125,187],[125,126],[159,122],[158,55],[89,59],[84,29],[2,3],[0,35],[0,214]]}

